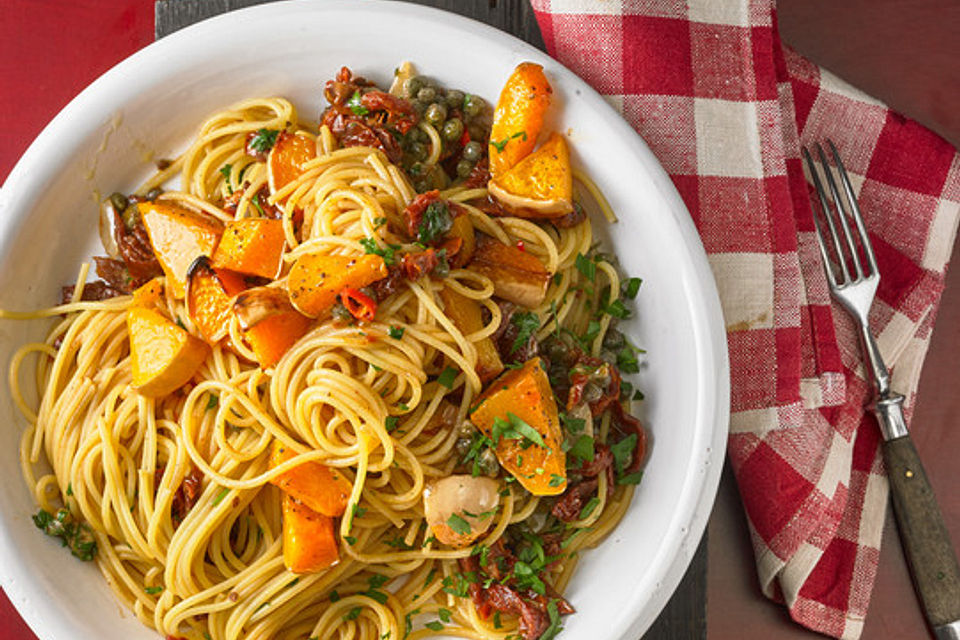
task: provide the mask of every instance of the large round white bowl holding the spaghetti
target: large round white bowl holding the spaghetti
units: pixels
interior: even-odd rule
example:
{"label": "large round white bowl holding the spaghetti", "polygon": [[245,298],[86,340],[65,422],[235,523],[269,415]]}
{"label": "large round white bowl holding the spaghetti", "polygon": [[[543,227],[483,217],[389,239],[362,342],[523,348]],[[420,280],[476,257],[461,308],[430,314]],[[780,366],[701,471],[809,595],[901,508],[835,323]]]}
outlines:
{"label": "large round white bowl holding the spaghetti", "polygon": [[[577,570],[567,595],[578,612],[561,637],[633,640],[679,583],[716,493],[729,395],[720,305],[689,214],[643,141],[586,83],[520,40],[436,10],[348,1],[255,7],[150,45],[73,100],[0,191],[0,308],[49,306],[79,263],[102,252],[96,195],[132,190],[151,154],[183,149],[211,112],[280,95],[314,119],[323,82],[341,65],[385,84],[401,60],[491,101],[518,62],[543,64],[557,130],[620,217],[600,233],[644,279],[628,331],[648,350],[637,382],[652,452],[623,522]],[[0,321],[0,362],[46,326]],[[6,385],[0,412],[0,581],[10,599],[43,640],[157,638],[92,564],[34,527],[17,457],[23,422]]]}

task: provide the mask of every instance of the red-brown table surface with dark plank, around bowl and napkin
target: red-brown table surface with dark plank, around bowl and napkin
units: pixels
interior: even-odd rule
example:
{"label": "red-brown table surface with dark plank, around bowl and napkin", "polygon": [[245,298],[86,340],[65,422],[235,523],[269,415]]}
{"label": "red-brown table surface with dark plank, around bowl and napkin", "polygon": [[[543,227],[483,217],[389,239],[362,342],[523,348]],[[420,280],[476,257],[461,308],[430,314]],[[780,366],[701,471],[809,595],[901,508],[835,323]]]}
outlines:
{"label": "red-brown table surface with dark plank, around bowl and napkin", "polygon": [[[542,48],[525,0],[417,0],[477,18]],[[0,11],[0,179],[43,125],[90,81],[157,35],[203,13],[258,0],[3,0]],[[198,8],[199,7],[199,8]],[[881,8],[882,10],[878,10]],[[949,0],[784,0],[786,42],[872,95],[960,143],[960,4]],[[878,37],[878,36],[884,37]],[[53,46],[55,43],[56,46]],[[960,245],[958,245],[960,246]],[[954,257],[960,256],[955,249]],[[912,425],[917,448],[960,544],[960,272],[947,290],[920,382]],[[896,529],[888,517],[877,585],[863,638],[923,638],[928,632],[910,588]],[[599,636],[598,636],[599,637]],[[760,594],[743,510],[729,471],[721,481],[708,535],[647,640],[819,636],[789,621]],[[32,640],[0,592],[0,640]]]}

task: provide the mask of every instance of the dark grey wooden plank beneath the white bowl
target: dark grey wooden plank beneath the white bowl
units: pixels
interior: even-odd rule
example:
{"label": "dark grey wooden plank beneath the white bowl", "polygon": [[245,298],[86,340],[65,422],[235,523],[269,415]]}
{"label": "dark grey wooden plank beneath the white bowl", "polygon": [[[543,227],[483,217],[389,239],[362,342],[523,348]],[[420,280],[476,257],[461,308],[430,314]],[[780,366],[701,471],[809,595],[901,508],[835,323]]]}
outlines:
{"label": "dark grey wooden plank beneath the white bowl", "polygon": [[[270,0],[157,0],[157,38],[206,18]],[[415,0],[511,33],[545,50],[527,0]],[[643,640],[705,640],[707,637],[707,538],[700,546],[660,617]]]}

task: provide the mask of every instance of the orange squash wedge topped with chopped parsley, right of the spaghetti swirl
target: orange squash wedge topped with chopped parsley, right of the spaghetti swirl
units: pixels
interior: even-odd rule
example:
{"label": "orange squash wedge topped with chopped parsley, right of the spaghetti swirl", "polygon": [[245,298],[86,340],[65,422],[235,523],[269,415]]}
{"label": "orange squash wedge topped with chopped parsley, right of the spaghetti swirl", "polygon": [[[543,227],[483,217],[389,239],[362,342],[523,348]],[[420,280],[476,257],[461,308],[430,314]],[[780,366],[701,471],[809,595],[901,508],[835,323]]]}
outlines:
{"label": "orange squash wedge topped with chopped parsley, right of the spaghetti swirl", "polygon": [[560,448],[563,433],[550,380],[540,358],[494,380],[471,410],[470,420],[487,437],[493,436],[496,419],[513,414],[533,427],[543,446],[525,438],[501,438],[497,458],[535,496],[552,496],[567,488],[567,456]]}

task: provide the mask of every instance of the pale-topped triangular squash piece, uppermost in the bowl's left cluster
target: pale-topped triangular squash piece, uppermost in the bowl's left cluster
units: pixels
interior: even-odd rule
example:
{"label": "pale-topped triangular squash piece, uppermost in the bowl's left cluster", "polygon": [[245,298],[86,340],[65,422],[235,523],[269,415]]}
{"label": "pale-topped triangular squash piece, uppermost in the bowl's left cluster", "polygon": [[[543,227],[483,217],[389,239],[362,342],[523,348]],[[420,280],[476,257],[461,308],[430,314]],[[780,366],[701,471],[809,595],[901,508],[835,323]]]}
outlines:
{"label": "pale-topped triangular squash piece, uppermost in the bowl's left cluster", "polygon": [[141,202],[137,205],[147,229],[153,252],[167,276],[167,285],[176,298],[183,298],[187,269],[197,256],[213,253],[223,223],[168,201]]}

